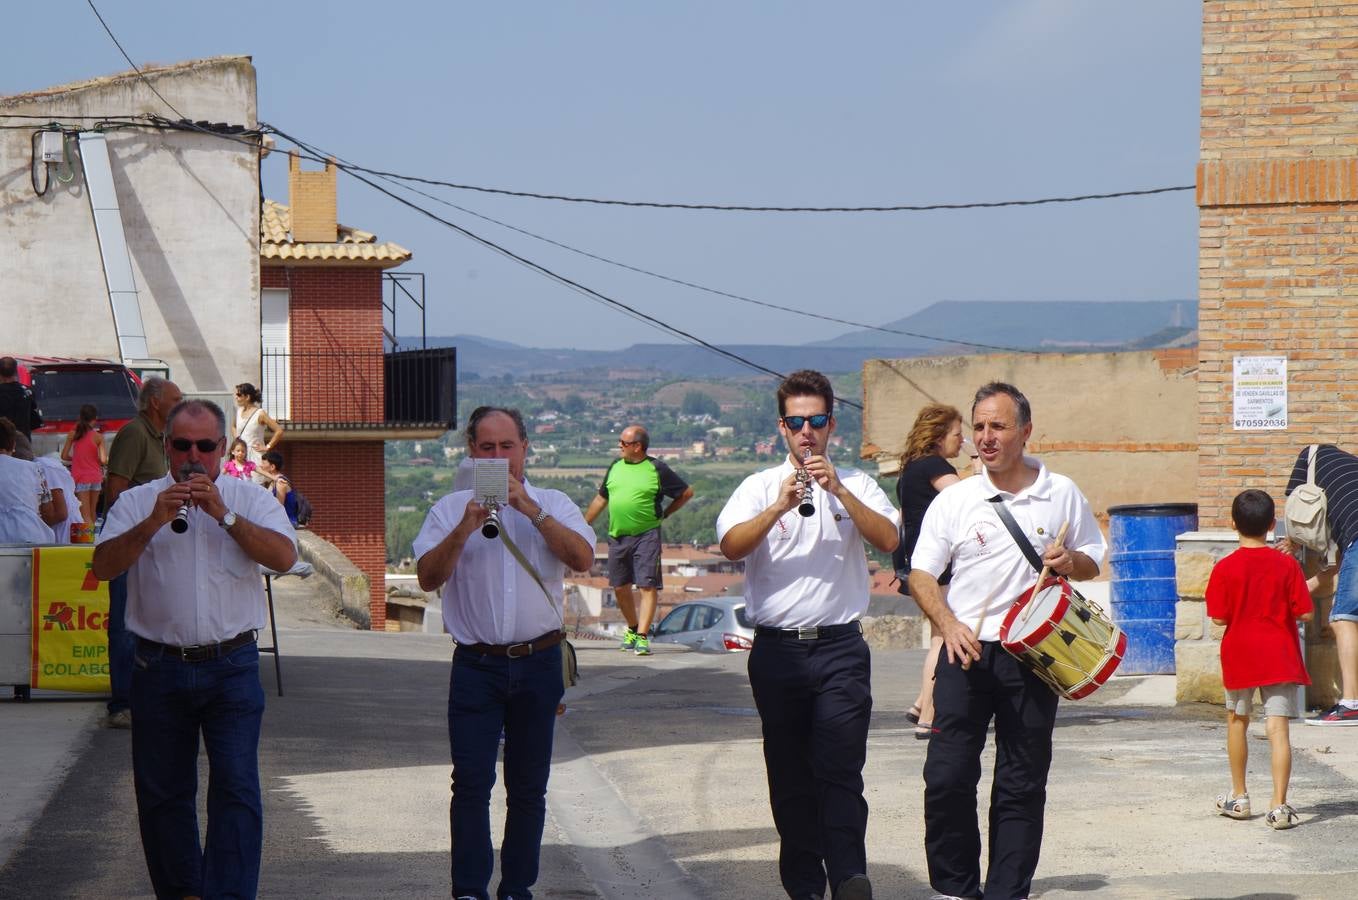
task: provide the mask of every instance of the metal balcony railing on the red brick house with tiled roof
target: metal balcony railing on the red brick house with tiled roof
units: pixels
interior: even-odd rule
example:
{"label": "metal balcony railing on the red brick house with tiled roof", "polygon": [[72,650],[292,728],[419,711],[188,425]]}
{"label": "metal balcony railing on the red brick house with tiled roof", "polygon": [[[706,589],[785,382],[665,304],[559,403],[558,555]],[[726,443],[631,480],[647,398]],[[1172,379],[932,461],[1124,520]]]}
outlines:
{"label": "metal balcony railing on the red brick house with tiled roof", "polygon": [[265,350],[263,406],[289,428],[372,429],[455,425],[454,348],[435,350]]}

